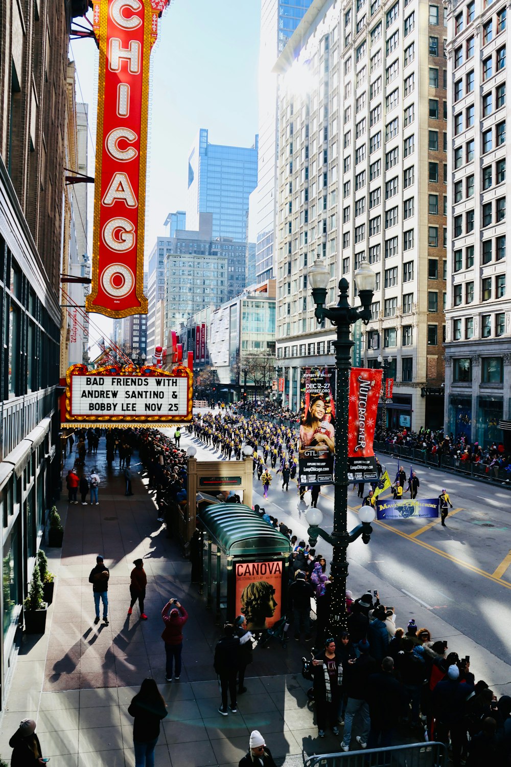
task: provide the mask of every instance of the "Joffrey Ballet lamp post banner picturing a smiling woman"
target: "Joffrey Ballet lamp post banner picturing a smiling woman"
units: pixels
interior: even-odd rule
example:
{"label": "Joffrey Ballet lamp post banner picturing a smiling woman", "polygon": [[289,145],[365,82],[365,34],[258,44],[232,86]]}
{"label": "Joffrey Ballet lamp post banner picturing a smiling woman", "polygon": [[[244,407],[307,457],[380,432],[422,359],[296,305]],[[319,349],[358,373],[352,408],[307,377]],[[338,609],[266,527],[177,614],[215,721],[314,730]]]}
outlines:
{"label": "Joffrey Ballet lamp post banner picturing a smiling woman", "polygon": [[336,416],[329,368],[302,369],[300,400],[300,485],[328,485],[333,482]]}

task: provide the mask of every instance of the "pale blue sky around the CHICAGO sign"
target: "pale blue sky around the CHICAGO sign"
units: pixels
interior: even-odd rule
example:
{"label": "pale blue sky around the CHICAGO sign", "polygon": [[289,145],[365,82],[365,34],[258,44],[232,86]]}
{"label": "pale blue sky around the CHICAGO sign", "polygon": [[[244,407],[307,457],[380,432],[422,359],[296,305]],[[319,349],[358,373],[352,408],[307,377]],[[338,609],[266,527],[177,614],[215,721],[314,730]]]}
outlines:
{"label": "pale blue sky around the CHICAGO sign", "polygon": [[[89,17],[91,18],[91,12]],[[80,19],[76,19],[84,24]],[[252,146],[257,133],[260,0],[172,0],[152,49],[146,191],[146,255],[165,235],[169,212],[184,210],[188,153],[199,128],[211,143]],[[98,53],[90,39],[71,42],[77,101],[89,108],[89,173],[94,172]],[[89,188],[91,255],[93,187]],[[110,333],[111,321],[93,320]],[[93,331],[91,329],[91,341]]]}

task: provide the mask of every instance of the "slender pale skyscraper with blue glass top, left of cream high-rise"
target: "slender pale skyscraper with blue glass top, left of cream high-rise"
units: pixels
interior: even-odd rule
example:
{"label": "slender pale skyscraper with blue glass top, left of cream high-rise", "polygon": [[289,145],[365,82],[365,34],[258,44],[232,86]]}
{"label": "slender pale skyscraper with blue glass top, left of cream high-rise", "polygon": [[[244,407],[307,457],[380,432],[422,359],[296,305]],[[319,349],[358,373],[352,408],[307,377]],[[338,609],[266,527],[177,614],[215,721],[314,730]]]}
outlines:
{"label": "slender pale skyscraper with blue glass top, left of cream high-rise", "polygon": [[[277,201],[278,88],[273,69],[312,0],[262,0],[259,46],[259,164],[255,212],[256,279],[273,277]],[[249,284],[249,283],[247,283]]]}

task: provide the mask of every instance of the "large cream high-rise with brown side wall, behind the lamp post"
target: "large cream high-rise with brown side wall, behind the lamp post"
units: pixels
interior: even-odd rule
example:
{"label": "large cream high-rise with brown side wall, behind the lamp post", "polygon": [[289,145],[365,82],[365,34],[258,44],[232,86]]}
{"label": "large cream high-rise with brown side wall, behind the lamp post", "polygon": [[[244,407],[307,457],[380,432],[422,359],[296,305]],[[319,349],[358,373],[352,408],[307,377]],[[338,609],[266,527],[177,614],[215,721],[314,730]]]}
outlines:
{"label": "large cream high-rise with brown side wall, behind the lamp post", "polygon": [[[447,61],[440,4],[314,2],[278,61],[277,364],[298,404],[301,367],[333,364],[307,285],[316,257],[327,301],[367,257],[372,318],[353,361],[391,355],[391,426],[441,426],[446,267]],[[421,67],[418,67],[418,62]],[[419,222],[420,216],[420,222]]]}

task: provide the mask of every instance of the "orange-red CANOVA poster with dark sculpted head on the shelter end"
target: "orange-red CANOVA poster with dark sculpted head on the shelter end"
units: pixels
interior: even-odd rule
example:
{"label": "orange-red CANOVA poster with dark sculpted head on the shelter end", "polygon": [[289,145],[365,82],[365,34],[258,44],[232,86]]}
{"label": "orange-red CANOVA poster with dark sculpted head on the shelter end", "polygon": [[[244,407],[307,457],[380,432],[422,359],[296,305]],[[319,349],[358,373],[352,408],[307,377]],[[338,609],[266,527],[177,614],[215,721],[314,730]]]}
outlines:
{"label": "orange-red CANOVA poster with dark sculpted head on the shelter end", "polygon": [[283,562],[236,562],[236,615],[249,631],[271,628],[282,615]]}

